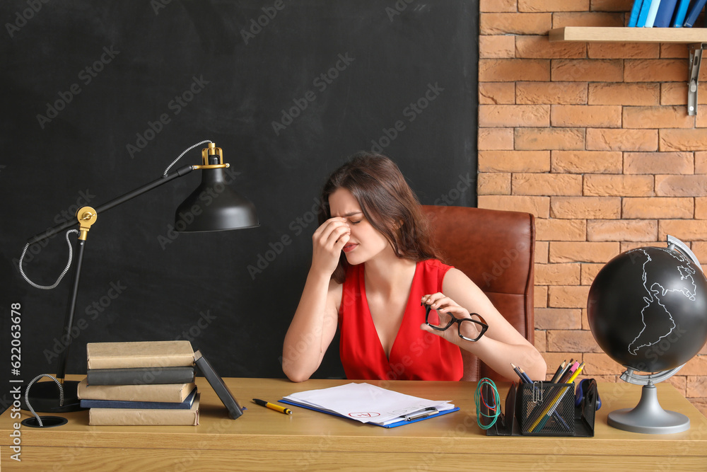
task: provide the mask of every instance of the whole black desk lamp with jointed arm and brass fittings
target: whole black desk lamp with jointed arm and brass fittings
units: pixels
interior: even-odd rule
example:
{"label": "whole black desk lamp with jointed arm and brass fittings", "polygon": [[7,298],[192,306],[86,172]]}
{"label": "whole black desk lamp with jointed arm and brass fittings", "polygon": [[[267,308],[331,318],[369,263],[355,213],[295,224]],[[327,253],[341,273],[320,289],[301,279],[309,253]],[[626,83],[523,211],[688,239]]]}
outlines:
{"label": "whole black desk lamp with jointed arm and brass fittings", "polygon": [[[173,173],[168,173],[169,168],[186,154],[189,149],[193,149],[204,142],[195,144],[182,153],[182,155],[167,168],[162,178],[143,185],[136,190],[132,190],[132,192],[127,192],[114,200],[110,200],[110,202],[100,205],[100,207],[96,209],[92,207],[79,208],[76,212],[75,221],[66,221],[28,240],[27,244],[29,246],[30,244],[49,238],[59,231],[69,229],[71,226],[76,226],[77,224],[79,225],[76,267],[74,268],[71,292],[69,292],[69,304],[66,307],[66,318],[64,320],[66,347],[59,354],[59,365],[57,367],[56,376],[57,383],[63,385],[64,399],[63,402],[60,401],[59,388],[57,388],[54,382],[39,382],[32,386],[32,390],[28,395],[28,401],[34,410],[45,413],[64,413],[82,409],[78,401],[78,396],[76,395],[78,382],[65,381],[64,377],[66,376],[66,363],[69,359],[69,346],[71,345],[71,328],[74,326],[74,312],[76,311],[76,297],[78,295],[78,282],[81,277],[83,251],[86,248],[86,240],[90,226],[95,223],[98,214],[102,214],[106,210],[117,207],[128,200],[132,200],[134,197],[153,190],[153,188],[175,180],[175,178],[187,175],[191,171],[201,169],[204,171],[201,174],[201,184],[199,184],[199,187],[177,207],[177,211],[175,212],[175,229],[177,231],[226,231],[229,229],[245,229],[259,226],[255,206],[252,202],[238,194],[238,192],[231,190],[228,185],[226,185],[223,169],[227,168],[229,164],[223,163],[223,151],[221,148],[216,147],[216,144],[213,142],[206,142],[209,144],[206,148],[201,150],[201,165],[185,166]],[[25,251],[26,249],[27,246],[25,246]],[[21,267],[22,259],[20,260],[20,268]],[[28,405],[25,403],[23,403],[23,408],[29,409]]]}

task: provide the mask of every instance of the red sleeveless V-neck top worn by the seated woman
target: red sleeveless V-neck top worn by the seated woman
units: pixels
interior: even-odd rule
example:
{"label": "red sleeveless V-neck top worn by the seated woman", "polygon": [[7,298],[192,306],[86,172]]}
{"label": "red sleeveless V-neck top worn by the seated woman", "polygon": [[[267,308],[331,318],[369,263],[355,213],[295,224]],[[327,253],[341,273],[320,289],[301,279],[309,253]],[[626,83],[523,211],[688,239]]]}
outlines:
{"label": "red sleeveless V-neck top worn by the seated woman", "polygon": [[420,329],[425,322],[420,300],[423,295],[442,292],[442,280],[452,267],[432,259],[417,263],[390,359],[385,356],[370,316],[363,268],[363,264],[349,267],[339,307],[339,355],[346,378],[460,380],[463,366],[459,347]]}

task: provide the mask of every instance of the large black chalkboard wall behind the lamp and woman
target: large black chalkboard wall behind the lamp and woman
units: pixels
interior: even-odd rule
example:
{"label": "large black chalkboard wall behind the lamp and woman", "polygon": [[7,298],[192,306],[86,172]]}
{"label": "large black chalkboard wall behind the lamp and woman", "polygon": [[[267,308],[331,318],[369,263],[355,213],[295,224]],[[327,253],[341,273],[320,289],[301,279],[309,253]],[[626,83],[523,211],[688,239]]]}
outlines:
{"label": "large black chalkboard wall behind the lamp and woman", "polygon": [[[25,378],[55,372],[70,279],[25,284],[26,239],[201,140],[261,226],[170,232],[198,172],[99,215],[69,373],[88,342],[188,338],[224,376],[282,376],[317,196],[354,151],[392,157],[425,204],[476,205],[476,1],[11,0],[0,16],[1,335],[20,304]],[[25,271],[51,284],[67,251],[54,237]],[[317,376],[342,374],[334,348]]]}

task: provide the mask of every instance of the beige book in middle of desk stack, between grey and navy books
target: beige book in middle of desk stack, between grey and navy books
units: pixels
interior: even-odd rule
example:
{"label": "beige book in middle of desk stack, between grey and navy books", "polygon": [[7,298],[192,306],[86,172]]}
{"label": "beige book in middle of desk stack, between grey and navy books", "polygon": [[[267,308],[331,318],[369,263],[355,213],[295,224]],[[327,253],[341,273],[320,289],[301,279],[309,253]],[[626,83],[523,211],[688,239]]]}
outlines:
{"label": "beige book in middle of desk stack, between grey and navy books", "polygon": [[181,403],[197,385],[88,385],[87,379],[78,384],[80,400],[168,401]]}

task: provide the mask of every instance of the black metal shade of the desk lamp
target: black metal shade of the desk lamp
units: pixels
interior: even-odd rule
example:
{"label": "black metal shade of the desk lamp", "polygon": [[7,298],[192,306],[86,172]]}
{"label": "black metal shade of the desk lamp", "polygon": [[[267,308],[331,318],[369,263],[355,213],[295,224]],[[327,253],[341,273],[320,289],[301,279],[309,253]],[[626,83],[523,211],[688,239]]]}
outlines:
{"label": "black metal shade of the desk lamp", "polygon": [[223,168],[206,168],[201,172],[199,187],[177,207],[177,231],[226,231],[260,226],[255,205],[227,185]]}

